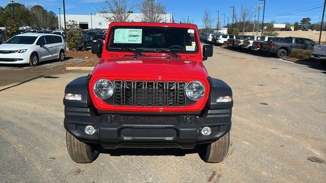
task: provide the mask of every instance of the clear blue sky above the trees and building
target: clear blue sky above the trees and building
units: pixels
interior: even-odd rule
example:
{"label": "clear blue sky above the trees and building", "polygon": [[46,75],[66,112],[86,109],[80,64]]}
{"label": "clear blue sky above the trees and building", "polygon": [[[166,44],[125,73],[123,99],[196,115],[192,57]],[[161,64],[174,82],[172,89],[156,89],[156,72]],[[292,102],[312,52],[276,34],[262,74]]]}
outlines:
{"label": "clear blue sky above the trees and building", "polygon": [[[132,2],[133,0],[128,0]],[[139,2],[140,0],[135,0]],[[16,0],[17,3],[27,5],[41,5],[47,11],[53,11],[59,14],[58,8],[62,8],[62,0]],[[94,7],[99,7],[103,0],[65,0],[66,14],[89,14],[96,12]],[[189,20],[203,27],[203,15],[207,9],[214,20],[217,19],[220,11],[220,19],[223,22],[224,15],[229,17],[232,22],[232,8],[235,7],[235,14],[239,15],[241,6],[249,9],[252,14],[252,19],[255,15],[255,5],[263,4],[259,0],[157,0],[162,2],[167,7],[167,12],[172,12],[175,22],[182,19]],[[0,0],[0,6],[5,7],[9,1]],[[310,17],[312,23],[320,22],[322,16],[322,7],[324,0],[266,0],[265,3],[265,18],[264,22],[274,20],[277,23],[295,21],[300,22],[303,17]],[[317,8],[320,7],[320,8]],[[314,9],[316,8],[316,9]],[[312,9],[312,10],[309,10]],[[308,10],[308,11],[306,11]],[[62,11],[62,10],[61,10]],[[304,11],[304,12],[300,12]],[[135,10],[139,13],[139,10]],[[62,13],[62,12],[61,12]],[[262,20],[263,7],[260,9],[260,21]],[[258,10],[257,10],[258,17]],[[325,19],[325,18],[324,18]],[[216,24],[216,21],[214,21]]]}

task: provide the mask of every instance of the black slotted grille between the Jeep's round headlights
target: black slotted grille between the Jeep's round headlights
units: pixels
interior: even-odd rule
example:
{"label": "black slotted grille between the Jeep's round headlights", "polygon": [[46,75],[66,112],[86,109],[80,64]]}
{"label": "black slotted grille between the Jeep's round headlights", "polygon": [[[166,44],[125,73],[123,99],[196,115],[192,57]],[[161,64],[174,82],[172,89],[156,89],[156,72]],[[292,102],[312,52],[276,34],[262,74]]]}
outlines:
{"label": "black slotted grille between the Jeep's round headlights", "polygon": [[185,96],[185,81],[114,80],[115,93],[106,104],[125,107],[185,107],[195,101]]}

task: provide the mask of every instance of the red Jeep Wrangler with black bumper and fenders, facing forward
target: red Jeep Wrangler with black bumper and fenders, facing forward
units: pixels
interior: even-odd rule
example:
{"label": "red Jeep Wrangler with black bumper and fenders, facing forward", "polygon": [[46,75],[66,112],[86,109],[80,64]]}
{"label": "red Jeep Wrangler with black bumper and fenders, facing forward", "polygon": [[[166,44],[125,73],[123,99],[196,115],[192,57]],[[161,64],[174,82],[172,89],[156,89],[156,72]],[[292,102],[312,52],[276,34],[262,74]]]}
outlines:
{"label": "red Jeep Wrangler with black bumper and fenders, facing forward", "polygon": [[77,163],[101,149],[192,149],[222,162],[229,148],[232,90],[208,76],[192,24],[113,22],[92,43],[101,60],[65,89],[67,148]]}

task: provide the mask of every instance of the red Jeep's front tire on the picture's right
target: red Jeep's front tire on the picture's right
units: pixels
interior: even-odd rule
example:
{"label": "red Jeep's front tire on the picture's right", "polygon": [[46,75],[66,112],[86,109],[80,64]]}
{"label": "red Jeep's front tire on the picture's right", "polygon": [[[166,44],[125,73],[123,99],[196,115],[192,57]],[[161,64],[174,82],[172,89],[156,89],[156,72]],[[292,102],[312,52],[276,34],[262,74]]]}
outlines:
{"label": "red Jeep's front tire on the picture's right", "polygon": [[207,163],[220,163],[228,154],[230,133],[211,144],[200,144],[199,156]]}

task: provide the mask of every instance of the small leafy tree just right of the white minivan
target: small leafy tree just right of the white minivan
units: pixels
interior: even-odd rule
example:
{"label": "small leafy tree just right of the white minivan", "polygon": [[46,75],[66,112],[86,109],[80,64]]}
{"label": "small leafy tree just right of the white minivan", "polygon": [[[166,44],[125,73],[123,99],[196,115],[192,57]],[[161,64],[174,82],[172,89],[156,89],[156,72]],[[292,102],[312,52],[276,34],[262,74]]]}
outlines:
{"label": "small leafy tree just right of the white minivan", "polygon": [[83,38],[82,29],[79,24],[73,20],[69,20],[69,24],[66,25],[66,43],[70,50],[78,48],[78,41]]}

